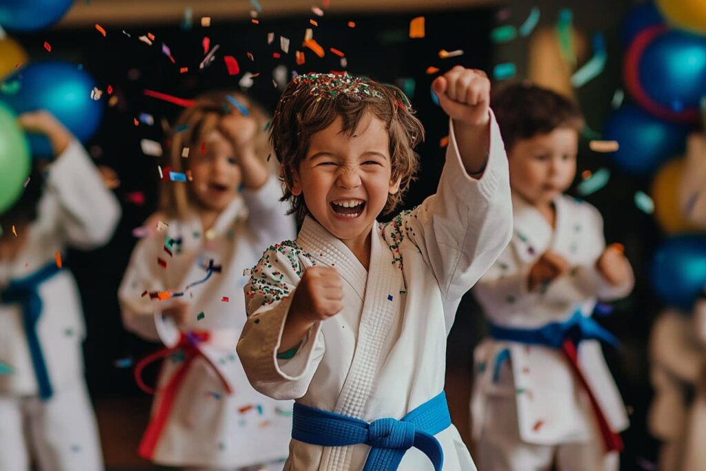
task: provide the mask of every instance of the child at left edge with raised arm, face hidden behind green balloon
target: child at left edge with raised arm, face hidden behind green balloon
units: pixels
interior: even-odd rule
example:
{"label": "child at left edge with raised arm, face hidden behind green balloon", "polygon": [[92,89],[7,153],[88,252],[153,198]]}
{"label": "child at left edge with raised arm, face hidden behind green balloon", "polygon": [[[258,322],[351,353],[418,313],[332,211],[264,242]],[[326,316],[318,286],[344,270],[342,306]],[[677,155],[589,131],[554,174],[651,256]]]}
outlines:
{"label": "child at left edge with raised arm, face hidden behind green balloon", "polygon": [[52,114],[25,113],[19,122],[47,135],[54,160],[46,172],[33,170],[23,196],[0,215],[0,470],[29,471],[33,461],[42,471],[98,471],[83,314],[61,255],[108,242],[120,207]]}

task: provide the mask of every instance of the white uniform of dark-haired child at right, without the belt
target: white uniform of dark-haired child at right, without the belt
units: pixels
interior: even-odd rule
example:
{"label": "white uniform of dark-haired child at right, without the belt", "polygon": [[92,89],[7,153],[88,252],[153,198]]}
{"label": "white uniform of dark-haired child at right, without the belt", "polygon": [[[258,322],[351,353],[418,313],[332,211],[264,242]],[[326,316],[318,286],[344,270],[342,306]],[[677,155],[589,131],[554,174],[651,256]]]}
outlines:
{"label": "white uniform of dark-haired child at right, without the belt", "polygon": [[[563,195],[554,203],[556,228],[513,193],[513,239],[474,287],[491,323],[506,328],[541,328],[568,320],[577,309],[582,315],[591,316],[597,299],[624,297],[632,290],[634,280],[611,287],[595,268],[605,248],[603,220],[598,211],[588,203]],[[529,292],[530,269],[547,250],[566,258],[573,270],[551,282],[544,292]],[[507,354],[503,350],[509,352],[506,361],[502,361]],[[601,435],[587,395],[560,350],[488,338],[478,345],[474,357],[478,373],[472,423],[474,438],[481,440],[481,467],[544,469],[553,458],[551,448],[559,445],[560,469],[617,466],[617,457],[611,458],[613,454],[605,463]],[[599,342],[580,342],[578,358],[611,429],[626,429],[625,407]],[[577,444],[585,444],[587,451],[577,451]],[[571,448],[570,452],[561,450],[565,445]],[[578,455],[594,458],[577,460]],[[566,456],[566,463],[572,466],[562,465],[561,456]],[[578,463],[584,467],[576,467]]]}

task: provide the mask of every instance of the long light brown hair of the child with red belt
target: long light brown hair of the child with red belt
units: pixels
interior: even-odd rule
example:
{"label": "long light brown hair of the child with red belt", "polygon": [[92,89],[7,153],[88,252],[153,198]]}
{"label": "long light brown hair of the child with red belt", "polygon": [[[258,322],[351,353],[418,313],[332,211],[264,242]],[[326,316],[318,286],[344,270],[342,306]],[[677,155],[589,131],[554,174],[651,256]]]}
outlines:
{"label": "long light brown hair of the child with red belt", "polygon": [[[167,136],[169,143],[167,165],[172,167],[172,171],[186,172],[189,169],[189,159],[181,157],[182,150],[191,147],[198,148],[206,136],[217,129],[222,117],[237,111],[228,97],[245,107],[249,116],[257,122],[261,132],[256,137],[255,152],[263,162],[269,159],[271,149],[265,132],[269,118],[267,112],[243,93],[218,90],[196,97],[196,103],[184,109],[172,126],[172,130]],[[272,170],[275,172],[274,162],[270,162],[268,165],[272,166]],[[170,217],[186,217],[191,205],[189,201],[195,201],[194,198],[196,197],[193,195],[191,184],[174,184],[168,179],[160,182],[160,210]]]}

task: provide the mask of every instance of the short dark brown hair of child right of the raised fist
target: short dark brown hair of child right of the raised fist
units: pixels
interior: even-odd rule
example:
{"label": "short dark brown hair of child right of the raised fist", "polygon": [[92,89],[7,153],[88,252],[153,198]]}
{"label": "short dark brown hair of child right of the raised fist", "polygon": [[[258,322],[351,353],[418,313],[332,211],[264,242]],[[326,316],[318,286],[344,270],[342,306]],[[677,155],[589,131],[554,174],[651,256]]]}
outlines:
{"label": "short dark brown hair of child right of the raised fist", "polygon": [[520,139],[551,133],[557,128],[580,132],[584,126],[575,102],[529,81],[499,87],[491,96],[491,108],[508,153]]}

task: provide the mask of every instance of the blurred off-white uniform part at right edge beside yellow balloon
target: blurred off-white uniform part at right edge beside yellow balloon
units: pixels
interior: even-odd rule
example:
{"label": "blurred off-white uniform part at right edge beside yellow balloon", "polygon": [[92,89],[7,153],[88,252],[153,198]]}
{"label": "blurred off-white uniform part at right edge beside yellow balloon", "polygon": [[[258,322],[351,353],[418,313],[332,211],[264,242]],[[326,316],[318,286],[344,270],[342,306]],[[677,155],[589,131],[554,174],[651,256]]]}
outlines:
{"label": "blurred off-white uniform part at right edge beside yellow balloon", "polygon": [[706,227],[706,136],[691,134],[687,141],[686,165],[679,184],[683,214]]}

